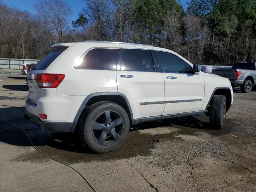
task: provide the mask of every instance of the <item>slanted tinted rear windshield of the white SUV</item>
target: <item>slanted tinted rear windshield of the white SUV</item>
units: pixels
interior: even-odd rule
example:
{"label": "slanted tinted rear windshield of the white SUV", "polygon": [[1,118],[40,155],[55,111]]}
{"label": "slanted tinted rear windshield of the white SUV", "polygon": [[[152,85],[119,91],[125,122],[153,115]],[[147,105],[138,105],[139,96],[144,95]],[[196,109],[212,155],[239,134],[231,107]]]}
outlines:
{"label": "slanted tinted rear windshield of the white SUV", "polygon": [[42,60],[36,64],[36,69],[46,69],[64,50],[68,47],[58,47],[54,48],[48,55],[46,55]]}

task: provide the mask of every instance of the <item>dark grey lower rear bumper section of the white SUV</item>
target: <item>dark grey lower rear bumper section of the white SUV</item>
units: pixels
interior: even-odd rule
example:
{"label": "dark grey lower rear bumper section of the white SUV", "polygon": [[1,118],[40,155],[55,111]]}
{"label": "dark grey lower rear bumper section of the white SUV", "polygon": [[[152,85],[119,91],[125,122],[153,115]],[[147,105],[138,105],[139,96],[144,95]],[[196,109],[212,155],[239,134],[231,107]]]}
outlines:
{"label": "dark grey lower rear bumper section of the white SUV", "polygon": [[36,115],[31,114],[26,110],[26,114],[30,117],[30,120],[40,126],[43,130],[53,132],[73,132],[74,126],[72,122],[44,122]]}

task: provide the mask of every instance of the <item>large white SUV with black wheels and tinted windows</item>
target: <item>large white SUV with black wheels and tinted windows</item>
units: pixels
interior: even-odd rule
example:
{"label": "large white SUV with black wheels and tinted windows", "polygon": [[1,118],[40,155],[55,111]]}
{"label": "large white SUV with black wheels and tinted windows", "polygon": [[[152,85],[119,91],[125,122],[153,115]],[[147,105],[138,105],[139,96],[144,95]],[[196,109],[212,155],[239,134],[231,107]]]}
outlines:
{"label": "large white SUV with black wheels and tinted windows", "polygon": [[200,72],[164,48],[119,42],[61,43],[28,74],[26,113],[44,130],[73,132],[95,152],[122,144],[130,125],[210,116],[223,128],[230,81]]}

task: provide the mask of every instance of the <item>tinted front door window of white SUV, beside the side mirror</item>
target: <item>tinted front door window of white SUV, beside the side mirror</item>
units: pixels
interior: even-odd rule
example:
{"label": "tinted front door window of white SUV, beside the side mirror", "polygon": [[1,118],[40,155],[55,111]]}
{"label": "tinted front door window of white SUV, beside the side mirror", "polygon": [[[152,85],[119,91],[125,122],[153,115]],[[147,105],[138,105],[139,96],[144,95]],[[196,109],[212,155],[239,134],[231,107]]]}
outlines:
{"label": "tinted front door window of white SUV, beside the side mirror", "polygon": [[192,67],[178,56],[162,51],[155,51],[160,62],[162,72],[166,73],[190,73]]}

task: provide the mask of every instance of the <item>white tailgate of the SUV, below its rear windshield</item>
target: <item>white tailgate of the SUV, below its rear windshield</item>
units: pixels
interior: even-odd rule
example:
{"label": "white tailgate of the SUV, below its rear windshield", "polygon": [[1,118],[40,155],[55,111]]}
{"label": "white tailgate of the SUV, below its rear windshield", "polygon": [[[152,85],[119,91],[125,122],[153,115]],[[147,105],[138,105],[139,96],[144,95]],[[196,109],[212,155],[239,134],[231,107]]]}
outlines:
{"label": "white tailgate of the SUV, below its rear windshield", "polygon": [[38,100],[42,96],[42,88],[39,88],[36,80],[34,80],[34,74],[43,73],[44,70],[31,70],[28,74],[28,99],[34,104],[37,104]]}

